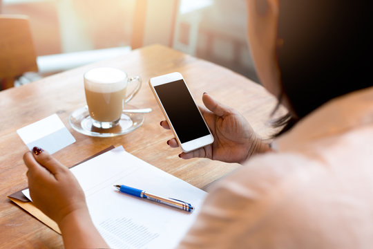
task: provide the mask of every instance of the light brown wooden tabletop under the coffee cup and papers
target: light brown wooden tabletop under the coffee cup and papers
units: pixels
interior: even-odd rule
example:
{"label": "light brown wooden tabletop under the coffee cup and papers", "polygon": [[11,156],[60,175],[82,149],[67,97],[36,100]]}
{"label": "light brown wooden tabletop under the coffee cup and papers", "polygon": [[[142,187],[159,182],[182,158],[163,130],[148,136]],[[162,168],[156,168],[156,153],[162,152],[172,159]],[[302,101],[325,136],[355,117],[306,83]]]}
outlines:
{"label": "light brown wooden tabletop under the coffee cup and papers", "polygon": [[[115,66],[122,68],[128,75],[142,77],[142,89],[131,101],[135,107],[153,109],[146,114],[142,127],[114,138],[84,136],[70,127],[70,113],[85,104],[83,73],[96,66]],[[17,89],[1,91],[1,248],[63,247],[59,234],[6,198],[27,186],[26,166],[22,160],[27,147],[16,130],[53,113],[58,114],[77,140],[73,145],[55,153],[55,157],[69,167],[110,145],[123,145],[131,154],[200,188],[240,167],[238,164],[204,158],[182,160],[178,158],[180,149],[171,149],[166,145],[166,141],[172,138],[172,133],[160,127],[160,121],[164,118],[148,82],[150,77],[173,71],[184,75],[198,103],[202,103],[202,94],[207,92],[218,101],[238,109],[260,135],[268,136],[272,132],[268,120],[276,100],[262,86],[226,68],[160,45],[148,46],[122,57],[52,75]]]}

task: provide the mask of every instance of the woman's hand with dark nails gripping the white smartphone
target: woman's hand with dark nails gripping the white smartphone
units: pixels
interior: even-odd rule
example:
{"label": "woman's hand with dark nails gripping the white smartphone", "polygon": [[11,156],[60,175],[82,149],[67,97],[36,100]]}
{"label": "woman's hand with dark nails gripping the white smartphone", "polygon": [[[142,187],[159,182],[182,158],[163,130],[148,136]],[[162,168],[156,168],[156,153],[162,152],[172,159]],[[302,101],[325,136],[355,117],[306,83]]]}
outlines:
{"label": "woman's hand with dark nails gripping the white smartphone", "polygon": [[[254,132],[249,122],[238,111],[213,100],[204,93],[202,101],[206,108],[200,107],[214,142],[195,151],[182,152],[180,158],[210,158],[227,163],[242,163],[254,154],[269,151],[269,144]],[[164,129],[170,129],[166,120],[161,122]],[[167,141],[170,147],[178,147],[175,138]]]}

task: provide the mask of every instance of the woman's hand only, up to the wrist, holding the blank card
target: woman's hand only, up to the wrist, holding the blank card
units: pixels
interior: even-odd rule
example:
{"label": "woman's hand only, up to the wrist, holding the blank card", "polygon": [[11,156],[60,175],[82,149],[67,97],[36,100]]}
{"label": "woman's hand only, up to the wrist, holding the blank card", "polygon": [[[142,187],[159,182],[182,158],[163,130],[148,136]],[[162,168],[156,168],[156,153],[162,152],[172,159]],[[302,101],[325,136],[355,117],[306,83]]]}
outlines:
{"label": "woman's hand only, up to the wrist, holding the blank card", "polygon": [[57,224],[71,212],[88,212],[82,187],[68,167],[34,147],[23,160],[28,167],[28,187],[32,202]]}

